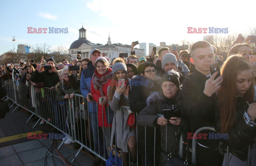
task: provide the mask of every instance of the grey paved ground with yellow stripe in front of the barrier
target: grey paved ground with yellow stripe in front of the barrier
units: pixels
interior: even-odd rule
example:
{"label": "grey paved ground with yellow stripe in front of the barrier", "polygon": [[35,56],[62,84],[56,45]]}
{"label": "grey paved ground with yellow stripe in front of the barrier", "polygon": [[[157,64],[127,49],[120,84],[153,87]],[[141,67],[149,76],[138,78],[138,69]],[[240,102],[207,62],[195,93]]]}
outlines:
{"label": "grey paved ground with yellow stripe in front of the barrier", "polygon": [[[11,104],[9,103],[11,106]],[[20,111],[19,108],[12,113],[6,114],[5,119],[0,121],[0,165],[68,165],[60,159],[60,155],[55,150],[54,146],[50,146],[52,139],[27,139],[27,133],[49,133],[49,125],[35,125],[37,118],[31,118],[26,124],[30,114]],[[39,124],[39,123],[38,123]],[[60,140],[56,140],[57,145],[60,145]],[[73,159],[78,150],[73,148],[74,143],[63,144],[59,153],[69,162]],[[47,153],[47,148],[52,154]],[[46,156],[47,153],[47,156]],[[58,157],[57,157],[58,156]],[[80,152],[76,160],[71,165],[91,165],[94,155],[90,152]]]}

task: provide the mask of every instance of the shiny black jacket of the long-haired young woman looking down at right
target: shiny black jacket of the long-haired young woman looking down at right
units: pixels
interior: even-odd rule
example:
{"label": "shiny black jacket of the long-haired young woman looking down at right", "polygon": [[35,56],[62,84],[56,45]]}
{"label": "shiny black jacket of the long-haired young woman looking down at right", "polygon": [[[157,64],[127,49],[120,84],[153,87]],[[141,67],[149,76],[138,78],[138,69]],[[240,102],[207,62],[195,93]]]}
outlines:
{"label": "shiny black jacket of the long-haired young woman looking down at right", "polygon": [[[242,161],[246,160],[248,147],[255,143],[256,126],[250,127],[245,123],[244,112],[247,112],[249,104],[243,97],[236,97],[236,121],[234,127],[228,133],[228,139],[221,139],[219,150],[226,152],[229,146],[229,152],[237,156]],[[219,111],[216,112],[215,130],[220,131]]]}

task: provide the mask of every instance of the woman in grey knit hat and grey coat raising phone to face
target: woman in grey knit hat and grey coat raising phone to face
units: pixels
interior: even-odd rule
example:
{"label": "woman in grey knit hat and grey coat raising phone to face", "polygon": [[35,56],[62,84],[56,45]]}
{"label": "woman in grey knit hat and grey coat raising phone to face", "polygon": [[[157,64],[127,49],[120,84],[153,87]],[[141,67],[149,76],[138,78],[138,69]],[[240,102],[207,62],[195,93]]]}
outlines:
{"label": "woman in grey knit hat and grey coat raising phone to face", "polygon": [[[131,165],[134,165],[137,161],[136,153],[136,137],[135,128],[130,128],[126,125],[127,118],[131,110],[122,109],[120,106],[129,105],[129,78],[127,76],[127,68],[124,60],[120,58],[115,59],[113,69],[113,77],[108,86],[108,99],[110,108],[115,111],[115,117],[113,119],[113,127],[111,135],[116,133],[116,145],[122,149],[123,165],[129,165],[129,152],[131,154]],[[122,81],[119,81],[119,80]],[[124,85],[122,83],[125,83]],[[116,132],[115,132],[116,130]],[[113,138],[111,138],[110,145],[112,145]]]}

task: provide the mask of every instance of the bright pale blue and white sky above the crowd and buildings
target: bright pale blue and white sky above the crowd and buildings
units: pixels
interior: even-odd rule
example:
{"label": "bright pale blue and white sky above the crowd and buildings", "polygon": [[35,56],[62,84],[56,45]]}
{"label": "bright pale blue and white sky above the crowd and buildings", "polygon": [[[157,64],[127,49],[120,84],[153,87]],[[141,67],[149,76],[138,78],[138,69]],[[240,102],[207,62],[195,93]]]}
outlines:
{"label": "bright pale blue and white sky above the crowd and buildings", "polygon": [[[253,21],[255,11],[245,6],[255,6],[256,2],[245,0],[241,3],[230,4],[222,0],[211,3],[164,0],[2,1],[0,54],[13,49],[13,36],[16,39],[15,50],[18,44],[33,47],[44,42],[52,50],[60,45],[68,49],[78,39],[82,23],[87,30],[87,39],[102,44],[107,43],[109,32],[113,43],[131,44],[139,40],[156,45],[161,41],[169,45],[183,39],[203,39],[204,34],[188,34],[187,27],[228,28],[229,34],[247,33],[256,27]],[[68,28],[68,33],[29,34],[27,27]]]}

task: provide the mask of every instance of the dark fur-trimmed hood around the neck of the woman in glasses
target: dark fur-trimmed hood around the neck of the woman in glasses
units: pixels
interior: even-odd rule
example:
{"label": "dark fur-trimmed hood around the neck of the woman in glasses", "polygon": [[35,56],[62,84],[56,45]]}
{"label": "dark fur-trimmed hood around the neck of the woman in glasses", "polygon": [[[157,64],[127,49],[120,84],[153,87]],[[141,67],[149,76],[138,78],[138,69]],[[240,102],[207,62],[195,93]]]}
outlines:
{"label": "dark fur-trimmed hood around the neck of the woman in glasses", "polygon": [[131,80],[131,86],[145,86],[147,88],[153,88],[155,82],[159,82],[161,78],[156,77],[156,80],[151,80],[143,75],[134,75]]}

